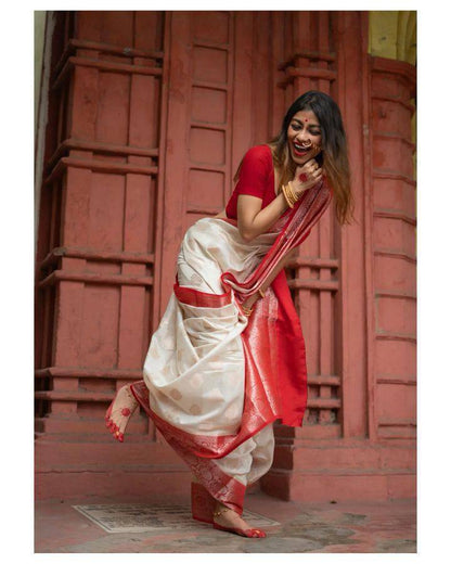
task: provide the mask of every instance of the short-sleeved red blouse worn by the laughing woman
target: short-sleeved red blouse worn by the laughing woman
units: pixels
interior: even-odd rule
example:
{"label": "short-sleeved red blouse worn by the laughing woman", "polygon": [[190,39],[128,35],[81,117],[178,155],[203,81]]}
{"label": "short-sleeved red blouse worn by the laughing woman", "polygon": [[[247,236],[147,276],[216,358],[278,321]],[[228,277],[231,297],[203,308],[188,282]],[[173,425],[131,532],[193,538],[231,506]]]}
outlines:
{"label": "short-sleeved red blouse worn by the laughing woman", "polygon": [[229,219],[237,219],[239,195],[261,197],[261,207],[266,207],[275,198],[274,166],[271,149],[268,145],[256,145],[244,155],[240,179],[226,207]]}

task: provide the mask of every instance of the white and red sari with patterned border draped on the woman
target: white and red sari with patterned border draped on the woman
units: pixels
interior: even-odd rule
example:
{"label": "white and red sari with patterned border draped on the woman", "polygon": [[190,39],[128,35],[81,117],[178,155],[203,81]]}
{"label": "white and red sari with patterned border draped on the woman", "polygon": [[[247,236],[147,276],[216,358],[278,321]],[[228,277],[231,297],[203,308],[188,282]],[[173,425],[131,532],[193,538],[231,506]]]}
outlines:
{"label": "white and red sari with patterned border draped on the woman", "polygon": [[[245,486],[220,470],[215,459],[275,419],[300,426],[307,405],[304,337],[284,271],[257,300],[250,318],[243,315],[241,304],[308,236],[331,197],[327,184],[320,182],[301,195],[272,233],[247,244],[234,220],[204,218],[190,228],[179,256],[180,269],[190,269],[189,284],[176,282],[151,341],[144,381],[131,385],[139,403],[210,499],[239,514]],[[199,312],[206,317],[199,318]],[[204,398],[203,385],[210,388]]]}

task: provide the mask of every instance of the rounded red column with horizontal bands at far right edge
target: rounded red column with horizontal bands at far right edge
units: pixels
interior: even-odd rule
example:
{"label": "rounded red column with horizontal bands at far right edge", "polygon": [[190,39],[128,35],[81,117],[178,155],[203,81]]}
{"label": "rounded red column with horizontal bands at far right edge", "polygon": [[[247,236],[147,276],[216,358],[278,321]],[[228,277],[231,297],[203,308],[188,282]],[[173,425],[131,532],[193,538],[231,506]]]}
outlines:
{"label": "rounded red column with horizontal bands at far right edge", "polygon": [[371,60],[374,424],[381,440],[412,448],[416,437],[414,97],[412,65]]}

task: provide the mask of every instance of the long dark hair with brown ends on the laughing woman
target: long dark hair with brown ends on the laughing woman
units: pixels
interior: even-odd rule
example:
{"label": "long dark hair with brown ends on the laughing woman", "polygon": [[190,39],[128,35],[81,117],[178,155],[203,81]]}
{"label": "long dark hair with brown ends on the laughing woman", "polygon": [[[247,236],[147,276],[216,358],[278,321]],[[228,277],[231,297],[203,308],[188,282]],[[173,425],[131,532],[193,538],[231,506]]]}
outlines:
{"label": "long dark hair with brown ends on the laughing woman", "polygon": [[279,136],[271,140],[274,166],[280,172],[279,190],[293,179],[296,164],[289,156],[287,130],[293,116],[301,110],[310,110],[317,116],[321,127],[322,152],[317,159],[323,167],[335,200],[335,213],[338,221],[350,223],[353,213],[353,198],[350,189],[350,175],[346,133],[342,113],[334,100],[317,90],[310,90],[293,102],[283,118]]}

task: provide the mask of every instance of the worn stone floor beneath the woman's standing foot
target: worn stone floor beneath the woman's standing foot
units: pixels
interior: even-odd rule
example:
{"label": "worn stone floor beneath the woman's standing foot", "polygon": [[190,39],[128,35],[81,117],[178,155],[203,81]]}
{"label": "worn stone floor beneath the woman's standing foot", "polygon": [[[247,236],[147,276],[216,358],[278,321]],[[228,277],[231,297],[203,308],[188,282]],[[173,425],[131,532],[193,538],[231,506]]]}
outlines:
{"label": "worn stone floor beneath the woman's standing foot", "polygon": [[[188,499],[36,503],[35,553],[415,553],[416,502],[298,503],[246,499],[246,539],[192,521]],[[117,531],[114,531],[117,530]]]}

